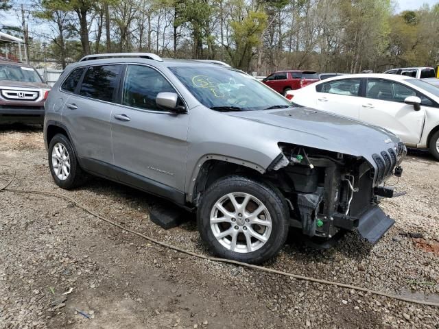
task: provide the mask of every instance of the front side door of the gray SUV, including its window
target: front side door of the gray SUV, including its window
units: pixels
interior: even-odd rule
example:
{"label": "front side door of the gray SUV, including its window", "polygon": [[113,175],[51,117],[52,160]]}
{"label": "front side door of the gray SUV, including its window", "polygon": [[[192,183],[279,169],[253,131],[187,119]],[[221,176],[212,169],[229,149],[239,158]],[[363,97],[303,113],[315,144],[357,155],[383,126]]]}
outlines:
{"label": "front side door of the gray SUV, including its window", "polygon": [[158,108],[156,96],[161,92],[176,90],[156,69],[126,67],[122,106],[111,116],[112,146],[115,165],[124,172],[122,181],[144,182],[150,185],[145,189],[169,197],[173,188],[185,191],[189,114]]}

